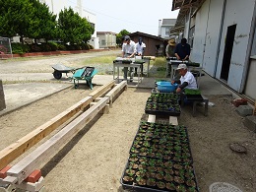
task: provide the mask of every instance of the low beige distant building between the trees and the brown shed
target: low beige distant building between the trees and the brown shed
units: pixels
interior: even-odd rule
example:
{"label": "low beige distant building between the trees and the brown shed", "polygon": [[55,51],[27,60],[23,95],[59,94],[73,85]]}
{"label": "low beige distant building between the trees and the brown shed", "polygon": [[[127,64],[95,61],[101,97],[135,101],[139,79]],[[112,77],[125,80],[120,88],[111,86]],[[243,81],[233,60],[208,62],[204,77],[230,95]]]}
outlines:
{"label": "low beige distant building between the trees and the brown shed", "polygon": [[99,38],[99,48],[111,48],[116,46],[115,32],[96,32]]}

